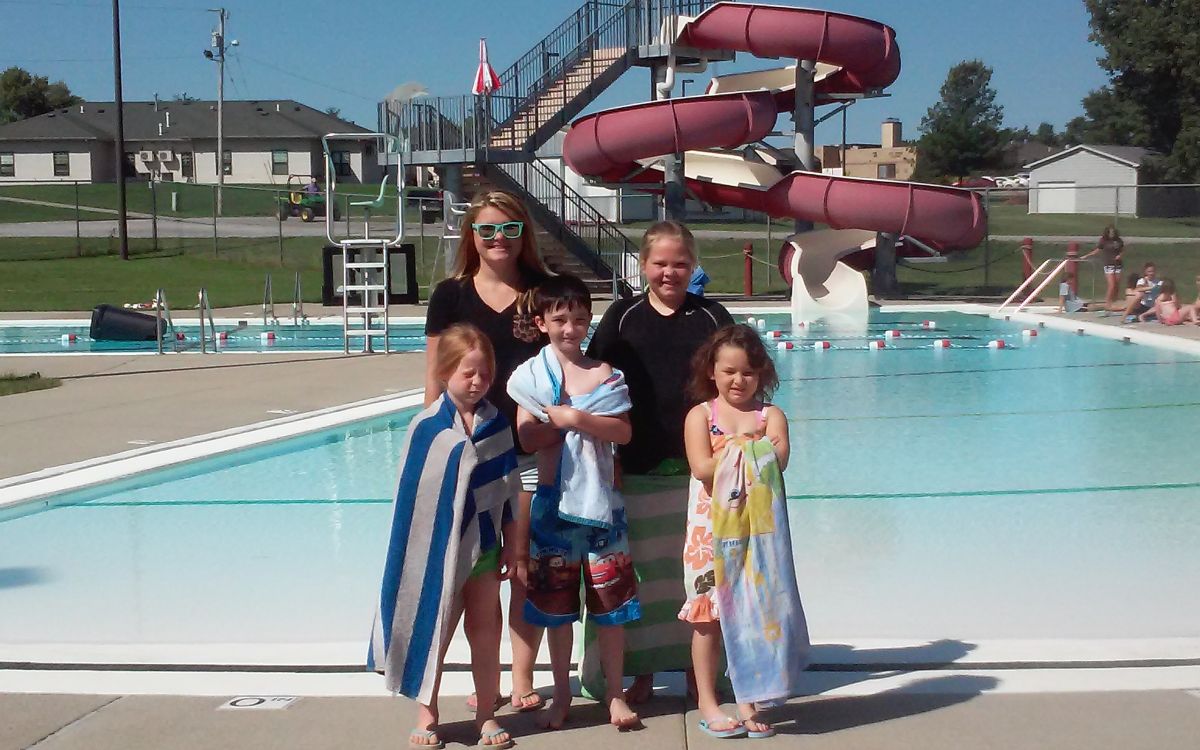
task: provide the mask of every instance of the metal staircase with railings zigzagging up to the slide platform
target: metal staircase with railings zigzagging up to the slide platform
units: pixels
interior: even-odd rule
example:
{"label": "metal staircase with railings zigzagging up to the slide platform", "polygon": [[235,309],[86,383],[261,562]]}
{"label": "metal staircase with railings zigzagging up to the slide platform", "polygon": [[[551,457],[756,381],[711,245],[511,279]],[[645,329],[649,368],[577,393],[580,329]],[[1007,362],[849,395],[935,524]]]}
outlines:
{"label": "metal staircase with railings zigzagging up to the slide platform", "polygon": [[[630,67],[661,61],[672,50],[680,64],[695,62],[689,50],[672,47],[664,29],[713,4],[588,0],[505,70],[492,94],[382,102],[379,130],[404,144],[410,164],[479,166],[492,185],[524,198],[538,223],[574,257],[562,265],[574,260],[614,294],[628,294],[628,280],[637,276],[636,248],[534,151]],[[706,58],[732,59],[732,53]]]}

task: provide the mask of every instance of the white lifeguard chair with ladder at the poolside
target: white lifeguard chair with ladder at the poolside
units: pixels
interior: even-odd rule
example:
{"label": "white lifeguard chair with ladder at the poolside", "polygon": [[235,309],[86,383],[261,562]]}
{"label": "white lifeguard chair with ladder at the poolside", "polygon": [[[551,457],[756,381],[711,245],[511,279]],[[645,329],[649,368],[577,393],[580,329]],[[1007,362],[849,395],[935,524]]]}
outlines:
{"label": "white lifeguard chair with ladder at the poolside", "polygon": [[[362,352],[378,352],[373,343],[383,338],[383,350],[391,352],[390,324],[388,317],[388,288],[390,269],[388,256],[392,247],[398,247],[404,239],[403,198],[404,194],[404,156],[400,139],[385,133],[329,133],[322,138],[325,150],[325,200],[335,199],[336,176],[330,142],[332,140],[371,140],[377,144],[379,154],[396,154],[396,228],[392,236],[372,238],[370,218],[364,221],[362,236],[334,236],[332,211],[325,211],[325,236],[331,245],[342,248],[342,350],[350,353],[350,340],[362,341]],[[385,196],[388,180],[379,187],[379,196],[373,200],[352,203],[370,211],[386,206]],[[360,257],[361,256],[361,257]],[[352,295],[358,294],[359,304],[350,304]]]}

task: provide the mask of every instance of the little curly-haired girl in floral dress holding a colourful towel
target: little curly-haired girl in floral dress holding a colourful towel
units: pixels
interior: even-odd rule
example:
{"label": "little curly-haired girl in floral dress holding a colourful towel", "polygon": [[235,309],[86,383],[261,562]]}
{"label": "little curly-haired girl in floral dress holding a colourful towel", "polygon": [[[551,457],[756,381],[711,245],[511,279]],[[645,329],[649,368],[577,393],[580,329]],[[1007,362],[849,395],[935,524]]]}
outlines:
{"label": "little curly-haired girl in floral dress holding a colourful towel", "polygon": [[[799,694],[809,634],[796,586],[782,472],[791,446],[787,416],[767,398],[779,385],[758,334],[731,325],[692,360],[684,439],[691,498],[684,547],[700,728],[712,737],[770,737],[756,704]],[[716,695],[725,647],[738,718]]]}

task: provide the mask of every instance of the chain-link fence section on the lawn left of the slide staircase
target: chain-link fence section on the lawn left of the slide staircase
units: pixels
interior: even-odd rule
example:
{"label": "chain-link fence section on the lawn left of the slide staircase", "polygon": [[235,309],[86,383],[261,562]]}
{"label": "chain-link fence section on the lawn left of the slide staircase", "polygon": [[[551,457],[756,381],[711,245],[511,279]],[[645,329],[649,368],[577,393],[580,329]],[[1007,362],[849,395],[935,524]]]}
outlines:
{"label": "chain-link fence section on the lawn left of the slide staircase", "polygon": [[[268,274],[275,301],[290,302],[298,272],[304,301],[319,302],[326,211],[336,217],[335,238],[395,236],[396,191],[386,186],[380,200],[378,185],[355,185],[326,205],[305,187],[227,185],[218,212],[215,185],[130,182],[122,264],[115,185],[0,185],[0,310],[140,302],[158,287],[168,299],[194,301],[208,287],[217,306],[252,305],[263,300]],[[404,200],[422,294],[443,234],[440,194],[425,192]]]}

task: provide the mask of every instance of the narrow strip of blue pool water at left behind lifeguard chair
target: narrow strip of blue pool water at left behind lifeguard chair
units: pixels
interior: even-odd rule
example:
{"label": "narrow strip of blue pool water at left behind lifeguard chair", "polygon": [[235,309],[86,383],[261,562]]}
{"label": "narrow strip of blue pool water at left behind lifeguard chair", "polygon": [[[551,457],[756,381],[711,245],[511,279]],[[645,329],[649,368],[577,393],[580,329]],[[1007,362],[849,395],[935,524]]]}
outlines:
{"label": "narrow strip of blue pool water at left behind lifeguard chair", "polygon": [[[247,320],[217,320],[217,352],[341,352],[342,323],[318,322],[305,325],[280,323],[263,325]],[[164,340],[167,352],[199,352],[200,329],[194,322],[175,324],[182,338]],[[205,329],[206,332],[208,329]],[[209,332],[211,336],[211,332]],[[415,352],[425,348],[425,323],[392,323],[388,336],[392,352]],[[361,350],[362,340],[352,340],[350,350]],[[382,342],[376,342],[382,349]],[[211,343],[208,344],[214,350]],[[92,341],[86,320],[23,322],[0,324],[0,356],[11,354],[151,354],[157,352],[154,341]]]}

